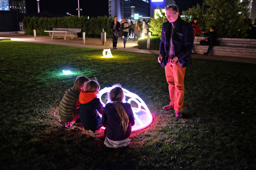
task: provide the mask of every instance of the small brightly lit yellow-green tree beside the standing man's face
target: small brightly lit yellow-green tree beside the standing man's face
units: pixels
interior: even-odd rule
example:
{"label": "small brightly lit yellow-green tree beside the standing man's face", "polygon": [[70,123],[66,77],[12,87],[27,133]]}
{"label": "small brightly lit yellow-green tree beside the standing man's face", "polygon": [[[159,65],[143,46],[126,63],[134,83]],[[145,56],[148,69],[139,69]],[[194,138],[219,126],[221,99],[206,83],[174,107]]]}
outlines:
{"label": "small brightly lit yellow-green tree beside the standing man's face", "polygon": [[165,15],[165,12],[163,12],[163,8],[159,8],[157,6],[157,9],[160,9],[160,13],[157,13],[157,17],[156,19],[151,18],[150,20],[150,28],[149,31],[152,33],[152,35],[157,35],[157,36],[161,36],[161,32],[162,32],[162,25],[164,22],[168,21]]}

